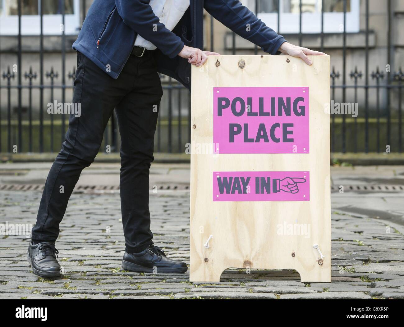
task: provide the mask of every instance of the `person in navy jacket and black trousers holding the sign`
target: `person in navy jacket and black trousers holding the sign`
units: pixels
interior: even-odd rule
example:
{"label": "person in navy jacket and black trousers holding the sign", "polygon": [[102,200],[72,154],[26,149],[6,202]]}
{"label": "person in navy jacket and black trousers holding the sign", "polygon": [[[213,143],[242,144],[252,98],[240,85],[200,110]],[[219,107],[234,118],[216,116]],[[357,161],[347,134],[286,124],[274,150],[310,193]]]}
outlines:
{"label": "person in navy jacket and black trousers holding the sign", "polygon": [[[122,267],[138,272],[184,273],[150,231],[149,168],[162,86],[158,73],[191,85],[191,65],[203,65],[203,10],[271,55],[284,53],[311,64],[322,52],[294,46],[267,27],[238,0],[95,0],[73,49],[77,71],[62,149],[50,168],[27,259],[34,274],[57,277],[55,241],[67,202],[83,168],[99,152],[115,108],[121,135],[120,197],[125,253]],[[63,191],[62,191],[63,190]]]}

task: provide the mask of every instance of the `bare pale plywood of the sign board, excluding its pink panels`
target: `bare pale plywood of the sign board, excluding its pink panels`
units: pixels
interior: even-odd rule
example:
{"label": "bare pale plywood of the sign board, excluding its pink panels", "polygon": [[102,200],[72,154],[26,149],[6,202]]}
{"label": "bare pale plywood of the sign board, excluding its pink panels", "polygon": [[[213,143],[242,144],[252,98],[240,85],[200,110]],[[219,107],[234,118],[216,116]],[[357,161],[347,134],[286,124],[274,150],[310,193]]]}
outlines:
{"label": "bare pale plywood of the sign board, excluding its pink panels", "polygon": [[[202,67],[192,67],[191,281],[219,281],[227,268],[247,268],[246,273],[249,269],[295,269],[301,281],[331,281],[330,115],[325,110],[330,101],[330,61],[329,56],[311,56],[310,59],[311,66],[288,56],[210,56]],[[304,152],[299,146],[296,152],[282,153],[285,150],[270,150],[275,146],[258,149],[259,145],[251,144],[246,149],[258,150],[237,153],[230,144],[230,148],[221,153],[219,144],[216,151],[213,145],[214,117],[217,118],[214,92],[240,87],[308,90],[308,149]],[[275,89],[268,92],[271,90]],[[265,93],[265,89],[261,91]],[[282,92],[277,90],[276,93]],[[254,110],[257,111],[256,106]],[[242,117],[237,119],[240,121]],[[262,119],[268,121],[268,117]],[[277,118],[273,119],[276,122]],[[242,133],[237,137],[242,137]],[[304,136],[299,136],[295,142],[303,139]],[[218,193],[218,188],[214,191],[218,182],[215,178],[222,183],[223,191],[225,180],[222,178],[229,177],[231,172],[239,175],[252,172],[251,181],[260,176],[257,172],[272,172],[274,184],[268,183],[273,187],[272,193],[267,197],[248,195],[248,198],[235,199],[232,195],[237,191],[226,197]],[[282,176],[282,172],[301,175],[285,173]],[[305,199],[275,197],[279,195],[273,194],[276,185],[279,188],[279,180],[303,178],[305,172],[309,182]],[[222,201],[215,201],[215,197]],[[320,262],[314,244],[319,245],[324,255]]]}

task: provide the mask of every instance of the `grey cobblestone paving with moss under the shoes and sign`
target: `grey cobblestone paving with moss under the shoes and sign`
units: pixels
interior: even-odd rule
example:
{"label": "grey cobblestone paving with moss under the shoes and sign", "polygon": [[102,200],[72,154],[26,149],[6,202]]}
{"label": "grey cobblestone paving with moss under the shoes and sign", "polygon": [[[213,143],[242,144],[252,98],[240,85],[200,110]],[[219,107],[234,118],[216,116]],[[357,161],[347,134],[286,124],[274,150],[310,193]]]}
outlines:
{"label": "grey cobblestone paving with moss under the shoes and sign", "polygon": [[[34,224],[40,196],[0,191],[0,224]],[[220,283],[190,283],[188,273],[123,270],[118,191],[74,193],[57,240],[63,279],[31,273],[26,236],[0,235],[0,298],[404,299],[402,226],[333,208],[331,283],[301,283],[293,270],[238,269],[226,270]],[[189,264],[189,192],[151,192],[150,209],[156,245]]]}

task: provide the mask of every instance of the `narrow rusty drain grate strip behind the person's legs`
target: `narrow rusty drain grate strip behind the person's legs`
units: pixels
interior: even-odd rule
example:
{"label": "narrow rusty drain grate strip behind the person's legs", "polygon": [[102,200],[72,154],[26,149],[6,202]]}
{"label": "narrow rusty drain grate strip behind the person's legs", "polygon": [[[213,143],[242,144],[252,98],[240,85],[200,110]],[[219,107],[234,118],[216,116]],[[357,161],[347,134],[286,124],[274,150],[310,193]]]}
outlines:
{"label": "narrow rusty drain grate strip behind the person's legs", "polygon": [[[0,191],[42,191],[44,184],[0,184]],[[150,190],[189,190],[189,184],[162,183],[153,185]],[[73,192],[92,193],[97,191],[119,191],[119,186],[114,185],[78,185]]]}

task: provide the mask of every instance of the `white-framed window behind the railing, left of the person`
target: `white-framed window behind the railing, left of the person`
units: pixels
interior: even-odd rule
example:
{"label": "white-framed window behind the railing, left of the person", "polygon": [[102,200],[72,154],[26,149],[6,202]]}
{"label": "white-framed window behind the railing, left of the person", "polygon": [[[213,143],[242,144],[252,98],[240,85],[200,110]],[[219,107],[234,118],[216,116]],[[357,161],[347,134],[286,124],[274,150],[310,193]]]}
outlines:
{"label": "white-framed window behind the railing, left of the person", "polygon": [[[65,34],[78,34],[80,27],[79,0],[21,0],[21,34],[40,34],[42,5],[45,35],[61,35],[63,2],[65,4]],[[18,34],[18,0],[0,0],[0,34]]]}

